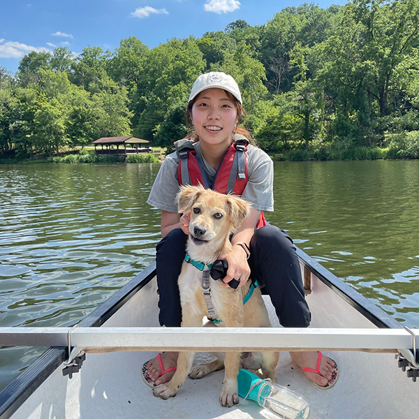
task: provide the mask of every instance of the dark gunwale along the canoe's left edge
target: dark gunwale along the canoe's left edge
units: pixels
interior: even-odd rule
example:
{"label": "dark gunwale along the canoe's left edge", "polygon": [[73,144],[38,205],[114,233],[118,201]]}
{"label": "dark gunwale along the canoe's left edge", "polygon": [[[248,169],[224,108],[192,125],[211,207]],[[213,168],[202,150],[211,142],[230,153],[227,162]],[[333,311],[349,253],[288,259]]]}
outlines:
{"label": "dark gunwale along the canoe's left edge", "polygon": [[[78,323],[84,328],[98,328],[156,275],[156,263],[142,270],[99,307]],[[68,359],[68,349],[50,347],[0,392],[0,419],[9,419],[41,384]]]}

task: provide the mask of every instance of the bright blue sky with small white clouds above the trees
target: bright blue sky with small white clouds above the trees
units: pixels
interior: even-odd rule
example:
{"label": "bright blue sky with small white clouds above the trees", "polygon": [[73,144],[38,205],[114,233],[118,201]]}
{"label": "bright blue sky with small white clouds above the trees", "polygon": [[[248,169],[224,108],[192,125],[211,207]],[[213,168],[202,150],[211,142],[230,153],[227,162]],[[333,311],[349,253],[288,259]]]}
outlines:
{"label": "bright blue sky with small white clouds above the trees", "polygon": [[[346,0],[314,1],[323,8]],[[265,24],[286,6],[304,0],[0,0],[0,66],[17,71],[30,51],[66,46],[75,55],[87,45],[115,50],[136,36],[150,49],[170,38],[200,38],[235,20]]]}

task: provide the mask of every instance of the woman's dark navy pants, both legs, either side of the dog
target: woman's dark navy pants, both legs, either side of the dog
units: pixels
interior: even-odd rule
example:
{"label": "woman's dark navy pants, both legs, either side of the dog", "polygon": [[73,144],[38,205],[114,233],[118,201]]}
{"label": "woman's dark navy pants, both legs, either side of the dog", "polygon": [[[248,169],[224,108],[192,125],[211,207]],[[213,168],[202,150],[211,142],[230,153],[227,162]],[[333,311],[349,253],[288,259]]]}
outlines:
{"label": "woman's dark navy pants, both legs, either side of the dog", "polygon": [[[159,321],[167,327],[179,327],[182,321],[177,277],[185,257],[187,238],[182,230],[175,229],[156,247]],[[250,251],[251,277],[257,279],[262,292],[270,296],[279,323],[285,328],[306,328],[311,314],[291,237],[274,226],[259,228],[251,239]]]}

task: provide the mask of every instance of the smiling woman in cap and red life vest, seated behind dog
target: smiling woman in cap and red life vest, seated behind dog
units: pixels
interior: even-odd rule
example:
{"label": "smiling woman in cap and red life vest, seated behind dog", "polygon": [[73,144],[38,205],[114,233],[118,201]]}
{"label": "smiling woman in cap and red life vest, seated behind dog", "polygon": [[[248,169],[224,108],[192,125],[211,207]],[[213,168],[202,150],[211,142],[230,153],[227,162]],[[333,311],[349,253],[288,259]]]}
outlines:
{"label": "smiling woman in cap and red life vest, seated behind dog", "polygon": [[[179,184],[198,182],[222,193],[237,193],[252,205],[250,216],[231,239],[233,251],[224,257],[226,286],[233,278],[243,286],[251,276],[270,295],[281,325],[301,328],[310,323],[291,237],[266,225],[263,218],[263,211],[273,211],[272,160],[248,143],[249,133],[239,128],[242,113],[240,89],[230,75],[200,75],[187,109],[188,122],[195,128],[192,140],[176,143],[177,152],[166,157],[147,200],[161,210],[163,239],[156,247],[161,325],[178,327],[182,320],[177,277],[185,256],[189,214],[177,213],[175,196]],[[291,353],[291,358],[321,388],[335,384],[338,368],[330,358],[311,351]],[[177,353],[159,354],[145,363],[142,376],[150,386],[166,383],[176,362]]]}

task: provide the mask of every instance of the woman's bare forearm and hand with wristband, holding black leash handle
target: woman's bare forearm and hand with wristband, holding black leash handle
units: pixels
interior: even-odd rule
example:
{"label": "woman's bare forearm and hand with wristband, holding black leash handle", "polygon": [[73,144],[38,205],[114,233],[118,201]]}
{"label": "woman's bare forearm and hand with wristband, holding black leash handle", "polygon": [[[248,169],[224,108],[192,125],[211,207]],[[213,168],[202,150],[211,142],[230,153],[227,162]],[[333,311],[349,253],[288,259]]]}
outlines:
{"label": "woman's bare forearm and hand with wristband, holding black leash handle", "polygon": [[235,243],[246,243],[249,247],[251,237],[253,237],[253,234],[255,233],[256,223],[258,222],[260,213],[260,211],[252,208],[249,216],[243,221],[242,225],[231,239],[233,250],[224,257],[228,262],[227,275],[223,279],[226,286],[233,278],[240,280],[240,286],[246,284],[249,279],[250,267],[249,263],[247,263],[247,253],[242,246],[235,246]]}

